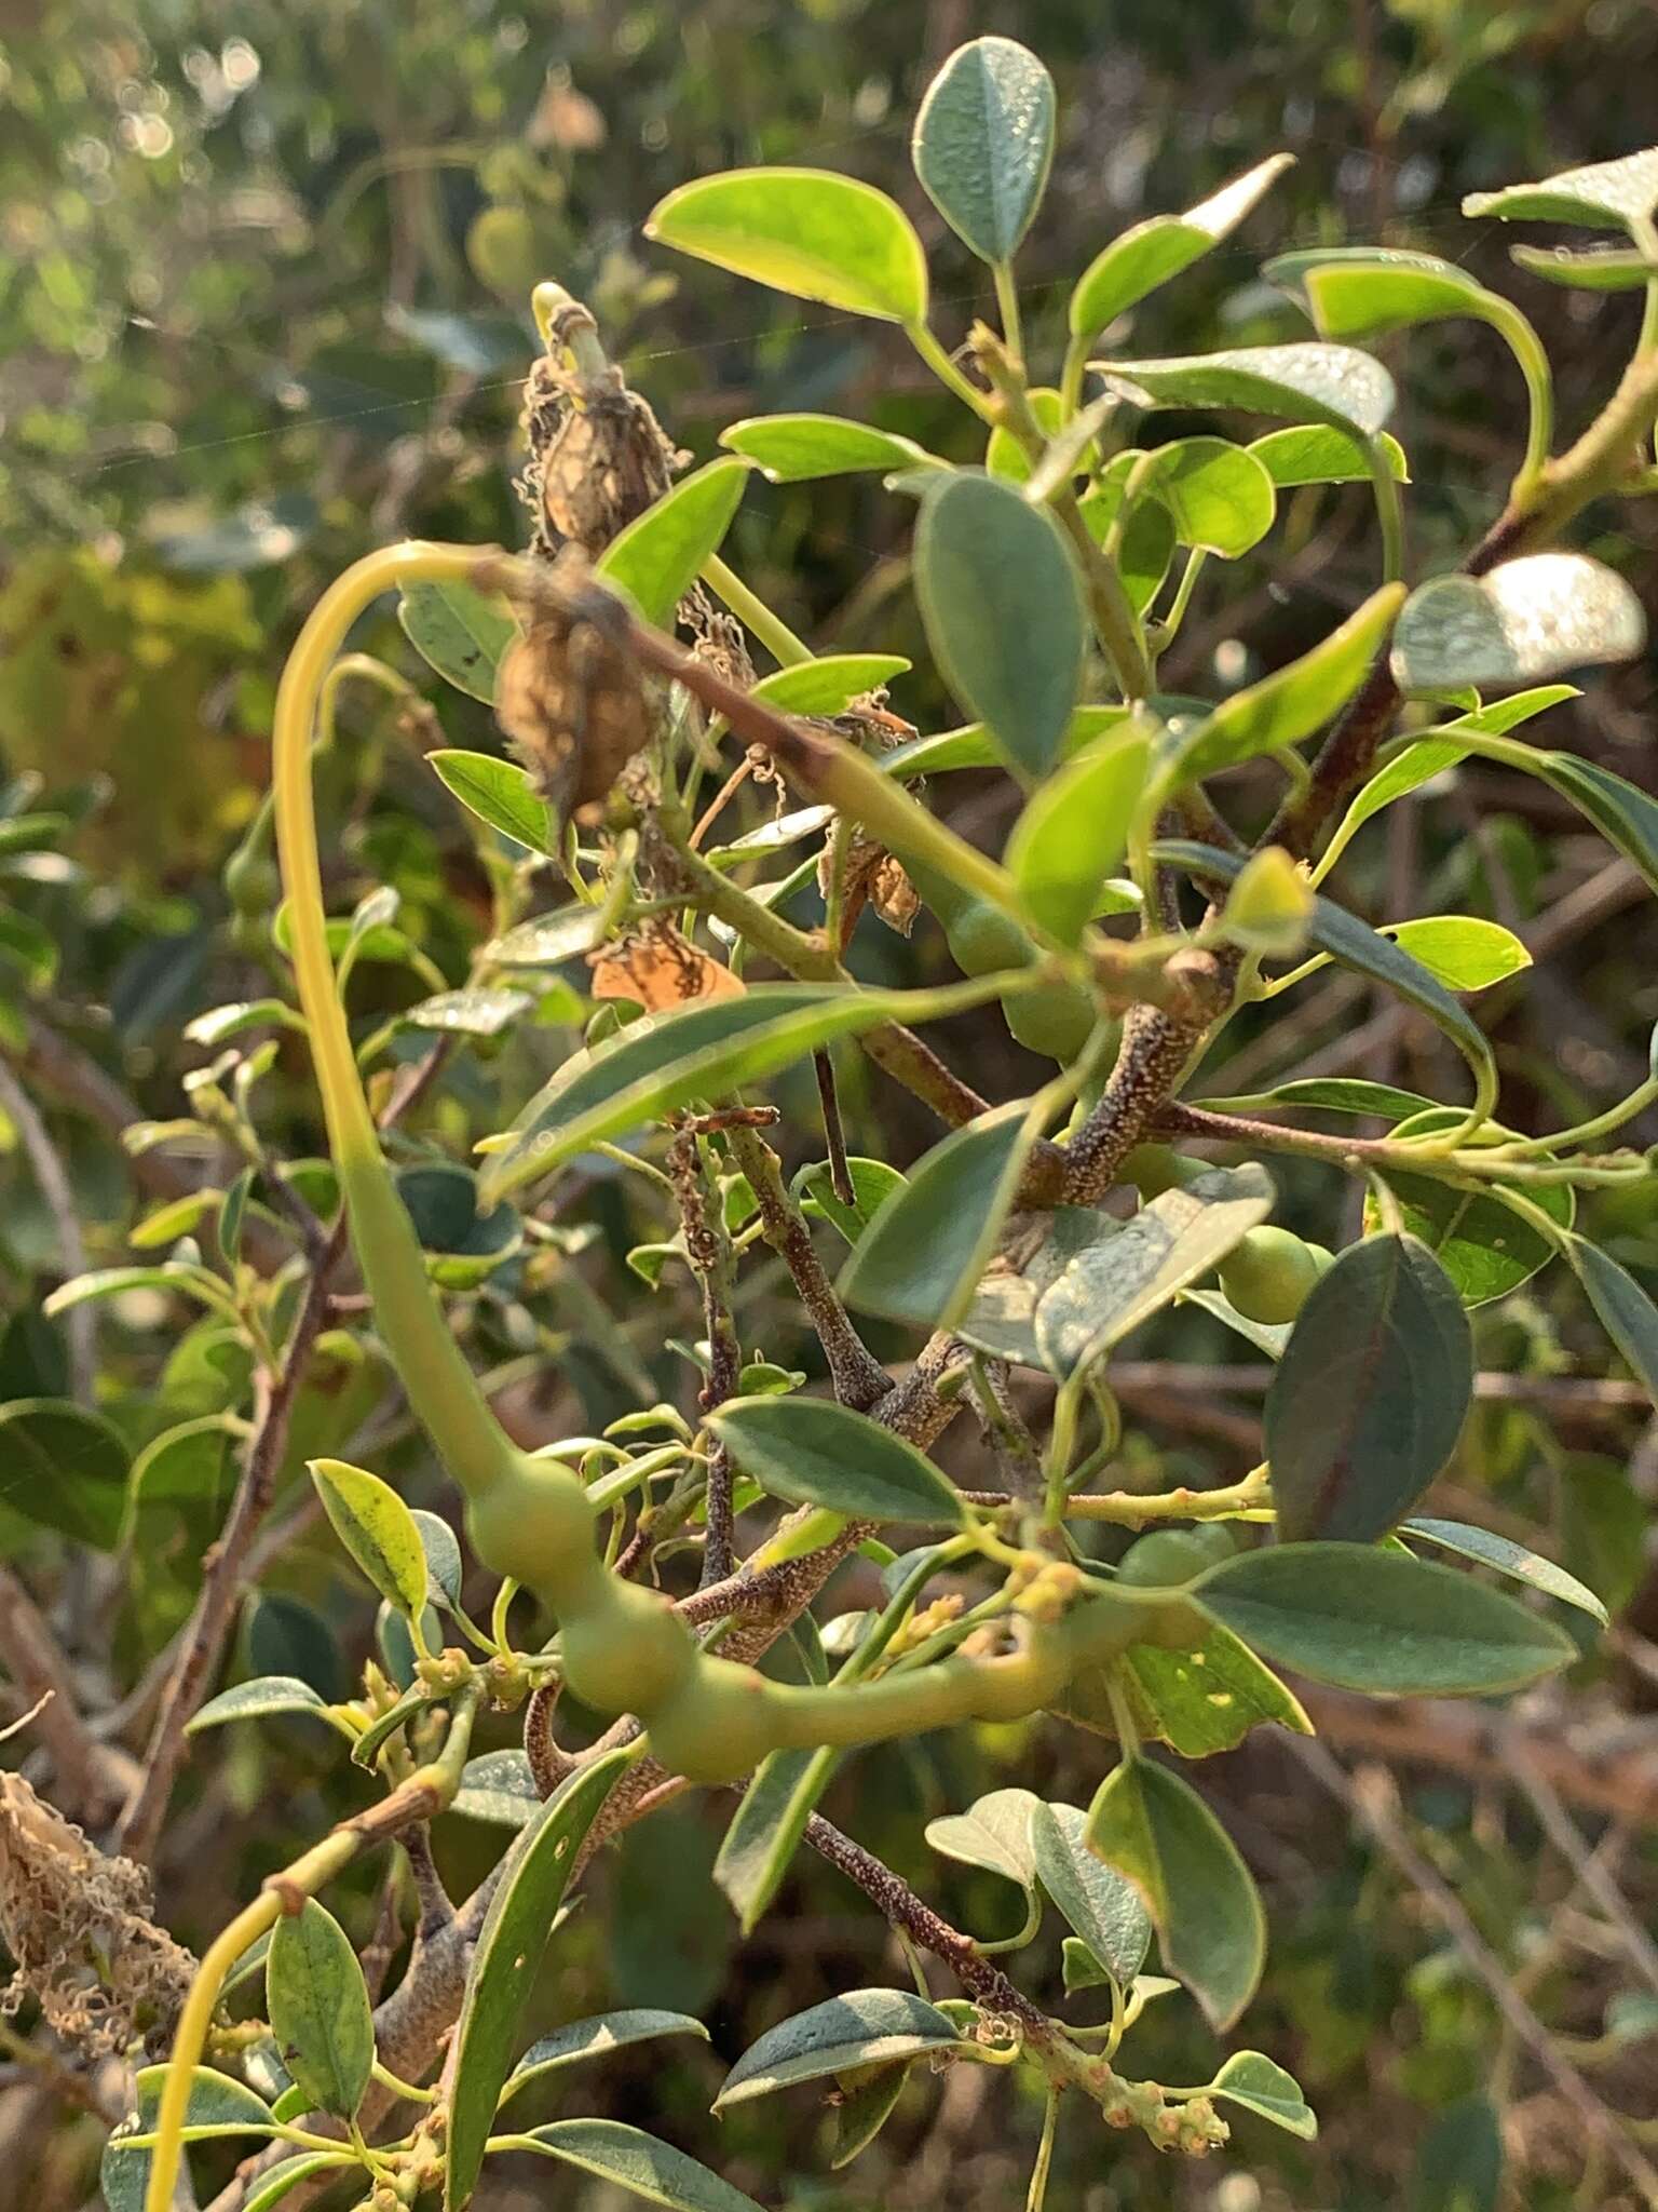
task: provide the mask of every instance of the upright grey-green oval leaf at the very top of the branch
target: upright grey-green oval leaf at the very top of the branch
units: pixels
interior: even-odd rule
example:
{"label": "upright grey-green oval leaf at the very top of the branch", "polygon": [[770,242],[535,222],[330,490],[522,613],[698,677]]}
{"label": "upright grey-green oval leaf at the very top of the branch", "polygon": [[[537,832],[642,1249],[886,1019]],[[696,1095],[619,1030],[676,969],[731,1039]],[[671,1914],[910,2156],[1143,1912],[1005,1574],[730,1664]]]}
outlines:
{"label": "upright grey-green oval leaf at the very top of the branch", "polygon": [[1054,157],[1054,80],[1010,38],[957,46],[915,115],[915,175],[979,261],[1006,263]]}

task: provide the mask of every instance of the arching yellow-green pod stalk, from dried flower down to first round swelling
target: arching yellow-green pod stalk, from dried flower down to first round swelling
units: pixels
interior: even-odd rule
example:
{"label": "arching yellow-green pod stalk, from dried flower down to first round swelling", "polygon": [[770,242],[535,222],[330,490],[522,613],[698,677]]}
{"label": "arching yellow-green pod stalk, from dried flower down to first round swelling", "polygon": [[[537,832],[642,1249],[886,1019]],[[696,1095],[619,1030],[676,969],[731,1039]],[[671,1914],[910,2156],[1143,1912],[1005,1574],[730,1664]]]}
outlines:
{"label": "arching yellow-green pod stalk, from dried flower down to first round swelling", "polygon": [[515,1460],[489,1411],[429,1283],[413,1223],[380,1155],[380,1137],[345,1024],[327,951],[323,874],[312,807],[312,732],[334,659],[358,615],[411,582],[464,582],[471,546],[400,544],[369,553],[316,602],[276,690],[272,790],[276,854],[287,894],[294,982],[305,1011],[323,1093],[329,1148],[374,1314],[420,1422],[469,1495],[486,1491]]}

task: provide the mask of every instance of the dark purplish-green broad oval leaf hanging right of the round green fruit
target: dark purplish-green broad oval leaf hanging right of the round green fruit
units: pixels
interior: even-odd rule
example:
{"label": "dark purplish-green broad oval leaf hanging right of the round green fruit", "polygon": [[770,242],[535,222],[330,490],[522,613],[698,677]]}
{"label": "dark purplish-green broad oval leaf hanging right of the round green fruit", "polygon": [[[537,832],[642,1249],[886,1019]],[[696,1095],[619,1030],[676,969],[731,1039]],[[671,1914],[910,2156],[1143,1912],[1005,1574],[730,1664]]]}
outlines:
{"label": "dark purplish-green broad oval leaf hanging right of the round green fruit", "polygon": [[1455,1451],[1475,1347],[1450,1276],[1415,1237],[1349,1245],[1309,1292],[1267,1391],[1278,1533],[1368,1544]]}

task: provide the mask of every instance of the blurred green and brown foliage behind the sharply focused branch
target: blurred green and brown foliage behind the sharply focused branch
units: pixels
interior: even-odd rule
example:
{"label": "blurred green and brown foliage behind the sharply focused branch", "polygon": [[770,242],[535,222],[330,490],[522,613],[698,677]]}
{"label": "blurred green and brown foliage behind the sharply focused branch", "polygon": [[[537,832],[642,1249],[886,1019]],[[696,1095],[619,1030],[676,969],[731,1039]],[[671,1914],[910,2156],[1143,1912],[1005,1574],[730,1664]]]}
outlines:
{"label": "blurred green and brown foliage behind the sharply focused branch", "polygon": [[[1289,148],[1298,168],[1242,239],[1136,310],[1132,327],[1112,334],[1119,349],[1298,336],[1298,314],[1260,285],[1258,261],[1291,246],[1386,241],[1468,261],[1523,301],[1554,358],[1567,434],[1609,387],[1636,299],[1521,276],[1505,237],[1457,210],[1468,190],[1651,139],[1651,0],[564,0],[524,11],[508,0],[0,0],[0,757],[20,779],[0,823],[0,1042],[38,1086],[93,1263],[130,1256],[128,1230],[161,1186],[150,1170],[144,1188],[144,1161],[135,1183],[108,1097],[99,1113],[86,1071],[117,1079],[141,1113],[170,1117],[181,1075],[210,1060],[183,1040],[188,1018],[270,989],[245,933],[228,927],[219,872],[259,803],[274,679],[298,619],[338,568],[391,538],[524,538],[511,473],[537,279],[557,276],[595,307],[630,378],[699,458],[738,416],[802,407],[973,451],[973,425],[902,338],[674,263],[639,226],[661,192],[705,170],[851,170],[893,190],[922,226],[937,321],[955,343],[986,299],[920,195],[906,142],[937,62],[982,31],[1024,38],[1061,91],[1054,184],[1019,268],[1037,358],[1043,347],[1057,356],[1066,288],[1105,237]],[[1413,471],[1413,560],[1428,573],[1490,518],[1517,456],[1519,392],[1490,334],[1470,325],[1413,334],[1388,361],[1402,380],[1395,429]],[[893,706],[942,728],[955,714],[920,650],[909,520],[906,502],[873,478],[756,482],[730,551],[814,644],[911,653],[920,666]],[[1603,522],[1587,549],[1651,604],[1654,502],[1620,511],[1618,533]],[[1371,571],[1364,495],[1307,493],[1271,546],[1225,580],[1211,571],[1169,661],[1172,686],[1214,692],[1278,666],[1355,604]],[[489,710],[438,686],[389,613],[363,641],[418,692],[343,695],[347,743],[327,768],[329,816],[345,823],[332,841],[336,902],[345,909],[376,880],[396,885],[405,947],[460,982],[489,925],[489,872],[420,750],[440,741],[436,717],[447,743],[497,741]],[[1547,741],[1651,787],[1656,688],[1651,661],[1596,675]],[[982,843],[995,847],[1006,832],[1010,794],[995,779],[962,776],[940,796]],[[1247,779],[1234,796],[1240,814],[1256,805]],[[1265,805],[1262,783],[1256,812]],[[756,818],[763,812],[758,801]],[[1539,953],[1523,984],[1483,1002],[1512,1117],[1576,1119],[1629,1088],[1658,1018],[1658,938],[1651,907],[1605,852],[1541,787],[1499,772],[1397,807],[1393,823],[1351,876],[1364,911],[1483,911]],[[274,883],[243,885],[245,909],[261,898],[274,907]],[[860,958],[869,973],[904,980],[948,971],[931,927],[909,947],[869,933]],[[363,969],[356,1011],[396,1011],[431,987],[393,947]],[[1324,982],[1291,1004],[1287,1020],[1234,1024],[1220,1088],[1324,1068],[1433,1088],[1435,1040],[1362,987]],[[522,1097],[568,1051],[579,1011],[570,995],[526,1037],[455,1062],[411,1141],[464,1157],[471,1135],[497,1126],[491,1102]],[[995,1097],[1030,1088],[1046,1066],[1008,1040],[995,1011],[955,1024],[946,1044]],[[842,1084],[860,1150],[906,1161],[928,1141],[917,1110],[851,1057]],[[807,1088],[780,1091],[798,1108],[796,1159],[814,1144]],[[301,1055],[283,1051],[263,1077],[259,1117],[276,1148],[316,1146]],[[9,1113],[0,1144],[0,1389],[29,1398],[66,1387],[73,1345],[31,1307],[75,1261]],[[1337,1241],[1315,1170],[1289,1172],[1284,1190],[1284,1219]],[[1620,1206],[1618,1217],[1603,1208],[1598,1228],[1654,1283],[1651,1203]],[[190,1225],[181,1217],[172,1228]],[[1355,1223],[1340,1228],[1353,1234]],[[568,1208],[557,1265],[539,1254],[473,1301],[469,1329],[484,1356],[539,1356],[539,1376],[522,1389],[526,1436],[597,1429],[641,1391],[643,1402],[688,1400],[690,1367],[665,1345],[699,1334],[683,1276],[670,1272],[652,1303],[626,1261],[650,1232],[615,1179],[597,1177]],[[787,1305],[767,1303],[776,1290],[756,1274],[745,1321],[772,1358],[811,1365]],[[181,1332],[161,1294],[111,1312],[102,1340],[99,1405],[133,1449],[186,1413],[234,1407],[245,1385],[223,1332]],[[1488,1369],[1528,1387],[1481,1405],[1450,1489],[1470,1520],[1541,1531],[1543,1548],[1620,1608],[1616,1635],[1578,1670],[1561,1725],[1587,1761],[1651,1761],[1651,1438],[1627,1400],[1585,1409],[1556,1389],[1556,1376],[1605,1371],[1563,1270],[1481,1316],[1479,1345]],[[898,1356],[904,1345],[895,1336],[880,1349]],[[1130,1458],[1156,1455],[1194,1478],[1249,1464],[1253,1400],[1229,1398],[1225,1383],[1198,1387],[1192,1365],[1236,1363],[1236,1340],[1185,1314],[1136,1352]],[[1152,1358],[1180,1360],[1185,1380],[1158,1380]],[[378,1402],[371,1352],[340,1332],[301,1409],[294,1473],[305,1451],[360,1436]],[[402,1464],[409,1486],[436,1502],[440,1489],[407,1436],[385,1413],[380,1429],[376,1464]],[[223,1506],[225,1433],[214,1433],[188,1467],[177,1455],[150,1467],[119,1584],[99,1579],[99,1564],[80,1575],[64,1566],[55,1540],[7,1509],[11,1475],[0,1467],[0,1553],[69,1608],[93,1699],[117,1703],[141,1688],[188,1608]],[[294,1509],[298,1491],[283,1500]],[[338,1694],[369,1650],[363,1606],[303,1511],[292,1542],[267,1559],[243,1644],[250,1668],[305,1674],[325,1694]],[[1333,1741],[1340,1747],[1340,1734]],[[208,1743],[159,1867],[164,1913],[192,1942],[351,1792],[305,1725],[237,1728]],[[829,1809],[962,1924],[988,1933],[1010,1900],[993,1880],[933,1860],[924,1818],[1015,1776],[1081,1803],[1101,1754],[1052,1725],[893,1745],[860,1759]],[[1620,2110],[1647,2112],[1658,2128],[1658,1991],[1607,1933],[1547,1814],[1455,1761],[1399,1774],[1419,1858],[1457,1891],[1559,2048],[1581,2055]],[[1298,2073],[1322,2139],[1289,2146],[1245,2117],[1231,2154],[1183,2168],[1079,2124],[1061,2139],[1050,2201],[1081,2212],[1634,2203],[1585,2150],[1581,2117],[1523,2059],[1421,1885],[1373,1849],[1342,1801],[1265,1739],[1205,1767],[1203,1781],[1225,1794],[1273,1913],[1249,2039]],[[1605,1805],[1583,1814],[1598,1865],[1647,1924],[1658,1902],[1656,1812],[1649,1783],[1645,1818],[1638,1807],[1609,1823]],[[447,1827],[444,1869],[464,1887],[500,1834]],[[546,2020],[606,2004],[683,2006],[707,2017],[730,2059],[785,2011],[849,1984],[904,1980],[884,1924],[811,1863],[738,1947],[707,1887],[721,1827],[721,1805],[688,1803],[626,1838],[562,1940]],[[374,1900],[365,1891],[356,1902],[367,1940]],[[1057,1933],[1021,1971],[1057,1991]],[[1207,2077],[1207,2037],[1185,2000],[1138,2033],[1141,2070]],[[0,2157],[18,2201],[38,2212],[86,2201],[95,2121],[64,2119],[22,2062],[0,2053]],[[844,2174],[827,2170],[827,2121],[809,2097],[747,2106],[716,2126],[705,2110],[714,2079],[714,2057],[696,2053],[672,2064],[623,2057],[601,2095],[767,2203],[1021,2203],[1037,2115],[1010,2077],[922,2077]],[[493,2183],[491,2205],[517,2201],[535,2201],[531,2183]]]}

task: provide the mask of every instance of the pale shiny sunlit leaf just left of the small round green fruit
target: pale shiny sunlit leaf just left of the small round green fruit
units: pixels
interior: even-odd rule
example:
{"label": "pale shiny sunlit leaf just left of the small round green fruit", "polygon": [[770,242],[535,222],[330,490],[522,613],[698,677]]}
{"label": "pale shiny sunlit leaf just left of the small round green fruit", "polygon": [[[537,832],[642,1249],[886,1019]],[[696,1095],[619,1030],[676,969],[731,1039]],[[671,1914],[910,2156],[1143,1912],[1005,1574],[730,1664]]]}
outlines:
{"label": "pale shiny sunlit leaf just left of the small round green fruit", "polygon": [[1253,1161],[1161,1192],[1116,1237],[1085,1245],[1035,1312],[1043,1365],[1061,1380],[1169,1305],[1265,1221],[1273,1186]]}

